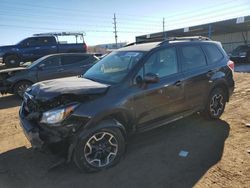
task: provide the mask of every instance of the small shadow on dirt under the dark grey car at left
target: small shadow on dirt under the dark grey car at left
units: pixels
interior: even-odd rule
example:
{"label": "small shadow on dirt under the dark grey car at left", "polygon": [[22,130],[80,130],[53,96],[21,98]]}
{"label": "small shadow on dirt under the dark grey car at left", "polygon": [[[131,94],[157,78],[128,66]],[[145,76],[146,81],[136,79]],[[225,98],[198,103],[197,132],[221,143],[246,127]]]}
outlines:
{"label": "small shadow on dirt under the dark grey car at left", "polygon": [[21,100],[15,95],[3,95],[0,94],[0,110],[12,108],[21,105]]}

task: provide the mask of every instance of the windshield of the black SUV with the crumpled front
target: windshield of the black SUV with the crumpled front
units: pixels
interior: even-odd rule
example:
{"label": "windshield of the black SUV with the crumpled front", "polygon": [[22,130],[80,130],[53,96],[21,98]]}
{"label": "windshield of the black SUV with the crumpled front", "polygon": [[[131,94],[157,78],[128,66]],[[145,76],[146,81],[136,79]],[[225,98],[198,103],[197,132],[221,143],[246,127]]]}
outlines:
{"label": "windshield of the black SUV with the crumpled front", "polygon": [[112,52],[91,67],[83,77],[100,82],[119,83],[142,56],[143,52]]}

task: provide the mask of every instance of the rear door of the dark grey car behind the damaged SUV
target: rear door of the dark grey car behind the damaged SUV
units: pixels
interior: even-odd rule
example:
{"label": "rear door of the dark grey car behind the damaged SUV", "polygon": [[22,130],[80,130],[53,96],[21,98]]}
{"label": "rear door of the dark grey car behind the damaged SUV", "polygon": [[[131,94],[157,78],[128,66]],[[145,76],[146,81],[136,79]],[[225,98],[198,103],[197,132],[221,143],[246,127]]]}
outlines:
{"label": "rear door of the dark grey car behind the damaged SUV", "polygon": [[64,76],[76,76],[85,73],[92,65],[93,58],[90,55],[65,54],[62,56],[62,72]]}

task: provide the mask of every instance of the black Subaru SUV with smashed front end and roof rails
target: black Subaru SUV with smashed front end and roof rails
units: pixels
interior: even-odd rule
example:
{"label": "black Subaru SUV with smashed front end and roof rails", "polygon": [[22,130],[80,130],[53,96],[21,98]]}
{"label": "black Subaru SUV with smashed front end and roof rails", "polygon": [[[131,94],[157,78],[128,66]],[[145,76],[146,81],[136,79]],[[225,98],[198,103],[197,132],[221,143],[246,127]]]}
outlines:
{"label": "black Subaru SUV with smashed front end and roof rails", "polygon": [[21,126],[34,148],[59,149],[80,169],[99,171],[118,163],[132,133],[196,112],[219,118],[233,69],[221,44],[204,37],[131,44],[84,75],[28,88]]}

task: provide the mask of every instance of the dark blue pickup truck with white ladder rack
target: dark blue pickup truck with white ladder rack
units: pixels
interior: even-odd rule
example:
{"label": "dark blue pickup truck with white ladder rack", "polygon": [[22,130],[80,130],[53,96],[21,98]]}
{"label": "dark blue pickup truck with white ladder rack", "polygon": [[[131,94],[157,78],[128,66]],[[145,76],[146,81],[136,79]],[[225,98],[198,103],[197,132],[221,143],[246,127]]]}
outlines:
{"label": "dark blue pickup truck with white ladder rack", "polygon": [[[59,37],[74,36],[76,41],[67,43]],[[81,42],[78,42],[82,38]],[[16,45],[0,46],[0,63],[7,67],[17,67],[20,62],[34,61],[40,57],[55,53],[86,53],[87,46],[82,33],[44,33],[26,38]]]}

